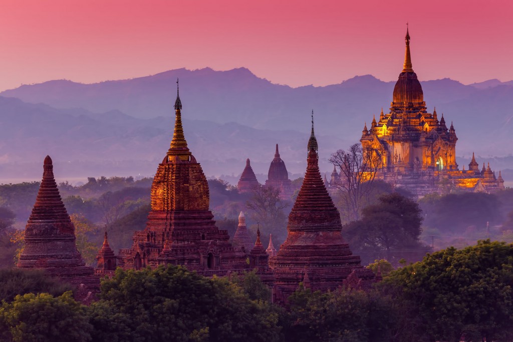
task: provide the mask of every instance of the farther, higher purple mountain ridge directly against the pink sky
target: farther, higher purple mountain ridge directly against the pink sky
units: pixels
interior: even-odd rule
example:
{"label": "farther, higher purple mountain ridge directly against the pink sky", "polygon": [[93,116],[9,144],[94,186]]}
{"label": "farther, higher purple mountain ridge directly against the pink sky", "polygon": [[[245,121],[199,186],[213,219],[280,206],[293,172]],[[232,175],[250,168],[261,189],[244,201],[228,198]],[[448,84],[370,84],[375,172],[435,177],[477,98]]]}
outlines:
{"label": "farther, higher purple mountain ridge directly against the pink sky", "polygon": [[[49,81],[1,94],[61,109],[83,108],[98,113],[119,110],[137,118],[153,118],[170,113],[177,77],[180,77],[180,96],[188,119],[307,133],[313,108],[319,134],[339,135],[354,142],[359,140],[363,124],[369,124],[373,114],[379,115],[381,107],[387,111],[394,86],[394,82],[365,75],[326,87],[291,88],[272,84],[245,68],[229,71],[205,68],[170,70],[87,85]],[[513,85],[497,82],[490,80],[468,86],[448,78],[422,82],[428,110],[432,112],[436,106],[439,114],[445,114],[447,122],[454,122],[459,155],[471,151],[481,155],[511,153]]]}

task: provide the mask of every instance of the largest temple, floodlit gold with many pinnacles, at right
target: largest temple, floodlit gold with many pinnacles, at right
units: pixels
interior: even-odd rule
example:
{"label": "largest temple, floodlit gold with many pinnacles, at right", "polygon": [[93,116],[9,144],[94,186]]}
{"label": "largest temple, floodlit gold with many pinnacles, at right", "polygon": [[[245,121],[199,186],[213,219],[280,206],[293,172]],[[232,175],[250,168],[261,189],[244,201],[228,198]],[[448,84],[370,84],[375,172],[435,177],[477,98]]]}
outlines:
{"label": "largest temple, floodlit gold with many pinnacles, at right", "polygon": [[393,89],[390,111],[385,114],[381,109],[379,120],[374,116],[370,129],[365,124],[360,139],[362,147],[382,151],[382,167],[376,177],[417,195],[452,188],[484,192],[503,189],[502,177],[496,178],[491,169],[486,174],[479,172],[474,156],[468,170],[459,169],[453,124],[447,128],[444,115],[439,120],[436,109],[427,112],[422,86],[411,64],[408,29],[405,42],[403,70]]}

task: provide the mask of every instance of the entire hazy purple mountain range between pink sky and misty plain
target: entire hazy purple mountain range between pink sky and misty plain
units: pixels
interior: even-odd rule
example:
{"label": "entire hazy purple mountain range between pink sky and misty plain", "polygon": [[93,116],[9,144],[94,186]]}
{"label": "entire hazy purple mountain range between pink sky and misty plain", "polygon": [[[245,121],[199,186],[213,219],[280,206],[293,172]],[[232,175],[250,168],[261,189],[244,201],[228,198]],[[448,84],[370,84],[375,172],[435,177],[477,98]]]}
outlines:
{"label": "entire hazy purple mountain range between pink sky and misty plain", "polygon": [[[288,170],[304,172],[312,109],[322,168],[330,171],[329,154],[359,141],[364,123],[370,125],[381,107],[387,111],[395,84],[364,75],[337,85],[291,88],[245,68],[205,68],[96,84],[23,85],[0,93],[0,178],[40,177],[38,159],[48,153],[56,168],[57,160],[63,161],[68,179],[151,175],[172,135],[176,78],[186,138],[205,173],[235,178],[249,157],[261,180],[276,143]],[[436,106],[439,116],[444,113],[454,123],[459,162],[468,164],[475,151],[483,156],[479,163],[489,160],[494,169],[513,169],[508,157],[513,82],[463,85],[444,78],[421,83],[428,111]]]}

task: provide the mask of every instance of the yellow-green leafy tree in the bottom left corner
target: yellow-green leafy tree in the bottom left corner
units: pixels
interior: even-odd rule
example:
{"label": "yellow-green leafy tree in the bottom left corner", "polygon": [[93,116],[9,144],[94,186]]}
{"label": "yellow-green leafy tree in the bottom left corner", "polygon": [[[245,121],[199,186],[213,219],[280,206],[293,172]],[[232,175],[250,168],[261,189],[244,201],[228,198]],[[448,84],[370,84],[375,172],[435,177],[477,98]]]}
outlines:
{"label": "yellow-green leafy tree in the bottom left corner", "polygon": [[48,293],[18,295],[0,307],[0,336],[14,342],[91,341],[92,326],[85,307],[71,291],[53,297]]}

